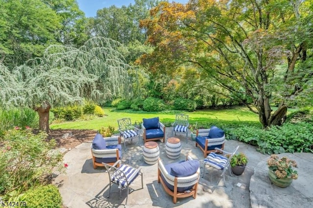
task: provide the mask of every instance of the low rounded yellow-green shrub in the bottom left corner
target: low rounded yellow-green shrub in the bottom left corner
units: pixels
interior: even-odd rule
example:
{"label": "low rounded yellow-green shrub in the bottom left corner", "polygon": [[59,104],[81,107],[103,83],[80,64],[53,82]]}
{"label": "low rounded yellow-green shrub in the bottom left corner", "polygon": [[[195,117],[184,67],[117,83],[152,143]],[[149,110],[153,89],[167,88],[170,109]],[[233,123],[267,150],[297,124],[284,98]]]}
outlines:
{"label": "low rounded yellow-green shrub in the bottom left corner", "polygon": [[53,185],[40,186],[25,192],[27,208],[62,208],[62,197]]}

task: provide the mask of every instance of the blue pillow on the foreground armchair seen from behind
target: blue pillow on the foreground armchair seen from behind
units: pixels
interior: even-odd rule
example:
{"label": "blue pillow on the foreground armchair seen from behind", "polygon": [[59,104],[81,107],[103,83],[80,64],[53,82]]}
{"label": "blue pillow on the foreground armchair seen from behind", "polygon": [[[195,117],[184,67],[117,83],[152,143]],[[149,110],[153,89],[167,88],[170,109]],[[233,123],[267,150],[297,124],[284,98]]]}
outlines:
{"label": "blue pillow on the foreground armchair seen from behind", "polygon": [[171,167],[171,175],[176,177],[187,177],[195,174],[200,166],[198,160],[188,160],[183,163],[175,164]]}

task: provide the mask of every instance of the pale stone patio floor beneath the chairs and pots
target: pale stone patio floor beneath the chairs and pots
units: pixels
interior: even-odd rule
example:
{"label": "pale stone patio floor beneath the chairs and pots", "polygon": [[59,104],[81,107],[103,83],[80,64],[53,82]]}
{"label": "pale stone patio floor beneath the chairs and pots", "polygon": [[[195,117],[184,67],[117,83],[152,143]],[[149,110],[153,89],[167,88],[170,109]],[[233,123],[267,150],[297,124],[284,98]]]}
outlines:
{"label": "pale stone patio floor beneath the chairs and pots", "polygon": [[[166,128],[166,139],[171,137],[171,128]],[[186,143],[183,135],[177,134],[182,150],[179,159],[172,160],[166,156],[165,143],[157,141],[160,150],[160,159],[164,164],[185,160],[186,154],[199,160],[203,166],[203,153],[190,138]],[[109,177],[104,167],[93,169],[89,143],[83,143],[64,155],[64,163],[68,167],[65,173],[55,172],[54,184],[59,187],[63,204],[67,208],[118,208],[124,207],[126,190],[119,197],[117,186],[113,185],[110,198]],[[266,161],[269,155],[256,151],[255,147],[234,140],[226,140],[225,151],[232,151],[240,145],[238,152],[244,152],[248,157],[248,164],[241,176],[230,176],[225,173],[226,186],[221,171],[206,166],[203,178],[200,178],[197,198],[178,198],[173,204],[173,197],[168,195],[161,184],[157,183],[157,163],[148,165],[142,156],[143,141],[138,139],[126,142],[127,151],[122,155],[122,163],[133,167],[142,167],[143,185],[141,188],[140,176],[131,185],[134,188],[129,194],[127,207],[135,208],[289,208],[313,207],[313,154],[286,153],[296,160],[299,178],[293,180],[290,187],[280,188],[272,185],[268,179]]]}

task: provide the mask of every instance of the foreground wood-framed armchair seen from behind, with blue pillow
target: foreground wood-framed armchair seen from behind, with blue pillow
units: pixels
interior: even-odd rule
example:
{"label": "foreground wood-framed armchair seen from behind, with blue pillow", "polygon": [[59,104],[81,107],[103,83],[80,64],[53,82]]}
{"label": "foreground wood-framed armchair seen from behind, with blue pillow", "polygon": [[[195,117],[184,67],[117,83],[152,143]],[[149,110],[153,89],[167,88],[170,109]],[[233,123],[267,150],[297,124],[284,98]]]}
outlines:
{"label": "foreground wood-framed armchair seen from behind, with blue pillow", "polygon": [[173,196],[173,203],[177,198],[197,197],[197,187],[200,177],[199,161],[193,160],[189,155],[186,161],[163,165],[158,160],[157,182],[162,184],[166,193]]}

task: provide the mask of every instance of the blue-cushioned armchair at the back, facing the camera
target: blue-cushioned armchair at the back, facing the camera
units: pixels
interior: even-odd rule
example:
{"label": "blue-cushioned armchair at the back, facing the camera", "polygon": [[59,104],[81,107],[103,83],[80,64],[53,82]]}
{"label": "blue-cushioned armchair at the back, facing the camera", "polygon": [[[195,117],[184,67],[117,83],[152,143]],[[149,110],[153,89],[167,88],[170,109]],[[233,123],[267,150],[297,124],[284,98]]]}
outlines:
{"label": "blue-cushioned armchair at the back, facing the camera", "polygon": [[141,129],[143,131],[144,143],[154,140],[165,141],[165,126],[159,122],[159,118],[142,119]]}

